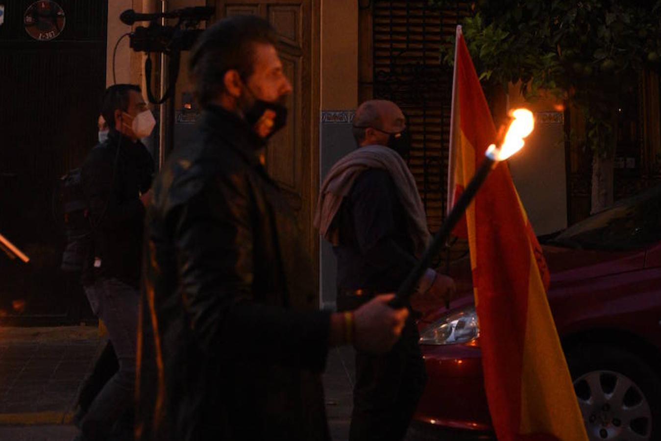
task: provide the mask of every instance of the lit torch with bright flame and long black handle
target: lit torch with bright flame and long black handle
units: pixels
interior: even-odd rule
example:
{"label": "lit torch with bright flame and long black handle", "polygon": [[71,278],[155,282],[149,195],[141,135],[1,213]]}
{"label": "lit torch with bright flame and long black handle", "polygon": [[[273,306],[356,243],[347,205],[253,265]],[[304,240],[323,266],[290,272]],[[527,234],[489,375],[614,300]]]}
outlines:
{"label": "lit torch with bright flame and long black handle", "polygon": [[397,290],[397,296],[391,301],[391,306],[403,307],[405,305],[406,300],[408,300],[415,291],[422,274],[424,274],[425,270],[429,267],[432,259],[434,259],[434,257],[441,251],[447,241],[447,237],[450,235],[455,225],[457,225],[457,222],[461,219],[469,204],[471,204],[477,190],[479,190],[485,182],[486,177],[500,161],[505,161],[524,146],[524,138],[526,138],[535,127],[533,114],[530,110],[518,108],[510,112],[510,117],[513,119],[507,133],[505,134],[504,140],[500,143],[500,147],[496,147],[495,144],[488,146],[482,165],[477,169],[475,176],[473,176],[471,182],[468,183],[465,190],[461,193],[461,196],[459,196],[459,199],[452,207],[451,212],[447,215],[443,225],[441,225],[441,228],[434,236],[432,243],[427,247],[424,255],[422,255],[422,259],[418,261],[418,264],[411,270],[404,283],[399,287],[399,290]]}

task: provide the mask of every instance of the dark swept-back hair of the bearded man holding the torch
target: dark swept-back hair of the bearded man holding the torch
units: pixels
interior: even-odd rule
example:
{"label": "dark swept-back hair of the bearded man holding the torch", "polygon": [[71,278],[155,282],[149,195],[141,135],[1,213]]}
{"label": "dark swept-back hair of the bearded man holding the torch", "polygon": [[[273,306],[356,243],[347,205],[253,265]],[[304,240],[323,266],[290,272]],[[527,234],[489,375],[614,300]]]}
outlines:
{"label": "dark swept-back hair of the bearded man holding the torch", "polygon": [[253,75],[254,44],[276,46],[278,34],[268,21],[254,15],[235,15],[216,22],[200,36],[190,57],[190,75],[202,108],[225,89],[230,69],[243,79]]}

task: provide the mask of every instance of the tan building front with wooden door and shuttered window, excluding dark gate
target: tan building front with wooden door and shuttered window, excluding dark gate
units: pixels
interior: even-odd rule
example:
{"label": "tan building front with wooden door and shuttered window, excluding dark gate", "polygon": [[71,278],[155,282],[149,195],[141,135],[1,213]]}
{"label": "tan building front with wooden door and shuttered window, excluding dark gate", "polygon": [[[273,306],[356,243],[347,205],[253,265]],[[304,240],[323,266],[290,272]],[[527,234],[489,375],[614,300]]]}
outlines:
{"label": "tan building front with wooden door and shuttered window, excluding dark gate", "polygon": [[[111,6],[115,10],[108,13],[110,21],[131,2],[125,3]],[[132,6],[141,11],[163,6],[154,0],[137,3]],[[424,0],[178,0],[168,1],[167,9],[199,5],[214,6],[214,20],[260,15],[280,34],[280,54],[294,88],[288,103],[292,118],[288,130],[268,148],[266,165],[297,210],[319,278],[319,303],[332,307],[335,259],[329,244],[320,241],[312,227],[313,208],[325,174],[355,148],[350,128],[360,102],[389,99],[403,108],[413,139],[409,166],[430,229],[436,231],[444,219],[452,73],[440,62],[440,47],[448,44],[446,38],[470,9],[463,2],[438,9]],[[127,30],[120,26],[114,36],[109,33],[108,48]],[[126,44],[120,45],[118,60],[124,63],[124,75],[144,84],[141,61],[136,58],[139,55]],[[185,61],[184,54],[182,66]],[[175,144],[186,138],[194,121],[180,118],[186,112],[186,97],[190,83],[181,69],[175,95]],[[509,104],[521,100],[516,93],[510,97]],[[543,234],[562,229],[567,222],[564,112],[553,100],[537,102],[533,110],[538,116],[533,147],[510,166],[533,225]]]}

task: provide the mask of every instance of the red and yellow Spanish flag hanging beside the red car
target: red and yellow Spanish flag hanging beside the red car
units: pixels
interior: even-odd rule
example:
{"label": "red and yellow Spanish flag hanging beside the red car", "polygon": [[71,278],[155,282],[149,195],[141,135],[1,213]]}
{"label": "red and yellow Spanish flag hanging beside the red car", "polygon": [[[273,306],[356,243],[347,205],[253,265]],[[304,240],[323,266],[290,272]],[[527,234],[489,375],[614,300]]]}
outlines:
{"label": "red and yellow Spanish flag hanging beside the red car", "polygon": [[[461,26],[456,41],[449,207],[496,141]],[[506,164],[486,179],[464,227],[486,397],[498,440],[587,440],[546,298],[549,273]]]}

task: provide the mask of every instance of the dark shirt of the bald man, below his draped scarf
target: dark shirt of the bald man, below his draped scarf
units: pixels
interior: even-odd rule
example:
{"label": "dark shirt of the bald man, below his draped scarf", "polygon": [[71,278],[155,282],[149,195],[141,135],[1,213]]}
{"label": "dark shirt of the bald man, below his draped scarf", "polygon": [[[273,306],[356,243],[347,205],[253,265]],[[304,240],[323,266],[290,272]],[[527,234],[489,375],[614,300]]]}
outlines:
{"label": "dark shirt of the bald man, below his draped scarf", "polygon": [[335,219],[340,245],[337,286],[392,292],[416,263],[407,213],[397,186],[382,169],[368,169],[354,182]]}

